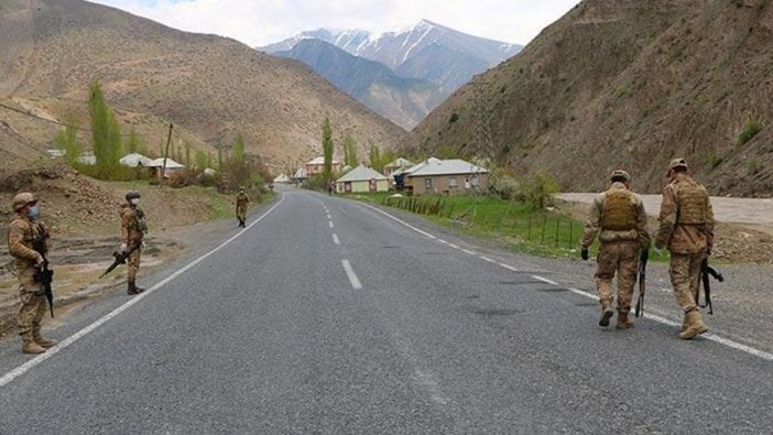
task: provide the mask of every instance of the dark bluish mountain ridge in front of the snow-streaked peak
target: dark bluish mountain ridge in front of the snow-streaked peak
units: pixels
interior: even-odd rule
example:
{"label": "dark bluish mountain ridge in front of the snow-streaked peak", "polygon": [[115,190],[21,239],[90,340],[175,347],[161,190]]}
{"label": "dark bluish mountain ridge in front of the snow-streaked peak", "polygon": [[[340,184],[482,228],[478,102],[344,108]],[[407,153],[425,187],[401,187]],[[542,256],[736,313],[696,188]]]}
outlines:
{"label": "dark bluish mountain ridge in front of the snow-streaked peak", "polygon": [[322,40],[301,40],[292,50],[274,54],[305,63],[338,89],[406,130],[446,97],[426,80],[401,77],[381,63],[353,56]]}

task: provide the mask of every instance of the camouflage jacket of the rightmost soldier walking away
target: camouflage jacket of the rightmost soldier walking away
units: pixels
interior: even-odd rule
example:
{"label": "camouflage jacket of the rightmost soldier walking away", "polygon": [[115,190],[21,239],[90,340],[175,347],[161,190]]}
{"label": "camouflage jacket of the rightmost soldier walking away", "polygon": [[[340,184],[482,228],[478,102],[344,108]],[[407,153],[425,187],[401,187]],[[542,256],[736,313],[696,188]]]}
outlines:
{"label": "camouflage jacket of the rightmost soldier walking away", "polygon": [[[685,224],[683,217],[684,195],[681,189],[696,192],[700,205],[703,222]],[[695,200],[693,200],[695,204]],[[696,183],[689,175],[678,173],[663,188],[661,204],[660,228],[655,235],[655,247],[668,247],[672,253],[698,253],[710,251],[714,246],[714,210],[706,188]]]}

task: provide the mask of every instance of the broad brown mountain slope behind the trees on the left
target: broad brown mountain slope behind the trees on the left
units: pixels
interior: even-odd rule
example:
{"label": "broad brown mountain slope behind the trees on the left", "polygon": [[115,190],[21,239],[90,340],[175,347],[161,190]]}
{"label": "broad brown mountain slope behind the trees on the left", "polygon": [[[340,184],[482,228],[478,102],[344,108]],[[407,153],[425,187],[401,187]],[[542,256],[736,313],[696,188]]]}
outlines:
{"label": "broad brown mountain slope behind the trees on the left", "polygon": [[[124,133],[153,149],[172,122],[178,148],[214,152],[242,135],[249,153],[284,170],[322,153],[325,117],[334,139],[351,134],[363,155],[405,134],[300,62],[81,0],[3,1],[0,53],[0,102],[85,127],[88,84],[99,80]],[[40,153],[57,130],[3,108],[0,124],[35,144],[14,141],[9,155]]]}

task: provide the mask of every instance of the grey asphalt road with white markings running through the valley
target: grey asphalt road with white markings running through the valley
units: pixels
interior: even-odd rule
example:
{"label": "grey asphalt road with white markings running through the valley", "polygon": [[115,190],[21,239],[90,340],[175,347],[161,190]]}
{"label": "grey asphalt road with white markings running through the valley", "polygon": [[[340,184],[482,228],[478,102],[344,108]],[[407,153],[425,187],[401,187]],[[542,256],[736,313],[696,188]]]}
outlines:
{"label": "grey asphalt road with white markings running through the valley", "polygon": [[771,354],[600,328],[525,255],[298,191],[232,236],[74,313],[45,357],[0,342],[0,433],[773,428]]}

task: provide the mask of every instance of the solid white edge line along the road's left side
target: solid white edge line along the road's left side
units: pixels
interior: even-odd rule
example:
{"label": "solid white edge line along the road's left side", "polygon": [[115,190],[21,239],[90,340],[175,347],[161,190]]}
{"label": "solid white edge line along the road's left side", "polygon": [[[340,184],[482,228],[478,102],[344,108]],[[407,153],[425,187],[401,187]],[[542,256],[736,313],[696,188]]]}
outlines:
{"label": "solid white edge line along the road's left side", "polygon": [[129,300],[129,301],[128,301],[127,303],[124,303],[123,305],[119,306],[118,308],[113,309],[112,312],[110,312],[110,313],[106,314],[105,316],[98,318],[98,319],[95,320],[92,324],[88,325],[87,327],[80,329],[79,331],[77,331],[77,333],[73,334],[72,336],[65,338],[64,340],[59,341],[56,346],[54,346],[54,347],[52,347],[52,348],[48,348],[48,350],[46,350],[44,354],[39,355],[37,357],[35,357],[35,358],[33,358],[33,359],[31,359],[31,360],[24,362],[23,365],[17,367],[15,369],[13,369],[13,370],[9,371],[8,373],[3,374],[3,376],[0,378],[0,388],[2,388],[3,385],[8,384],[8,383],[11,382],[12,380],[19,378],[20,376],[24,374],[24,373],[28,372],[30,369],[34,368],[35,366],[40,365],[41,362],[45,361],[46,359],[48,359],[48,358],[53,357],[54,355],[58,354],[59,351],[64,350],[65,348],[67,348],[67,346],[74,344],[74,342],[77,341],[77,340],[79,340],[79,339],[83,338],[86,334],[89,334],[89,333],[91,333],[92,330],[97,329],[98,327],[102,326],[104,324],[106,324],[106,323],[107,323],[108,320],[110,320],[111,318],[118,316],[119,314],[121,314],[121,313],[123,313],[124,311],[129,309],[129,307],[131,307],[132,305],[134,305],[134,304],[137,304],[138,302],[140,302],[141,300],[148,297],[148,295],[150,295],[150,294],[153,293],[154,291],[156,291],[156,290],[163,287],[164,285],[168,284],[171,281],[175,280],[176,278],[178,278],[178,276],[182,275],[183,273],[187,272],[187,271],[190,270],[193,267],[195,267],[196,264],[198,264],[198,263],[200,263],[202,261],[204,261],[207,257],[209,257],[209,255],[211,255],[213,253],[219,251],[220,249],[222,249],[224,247],[226,247],[228,243],[230,243],[231,241],[236,240],[239,236],[241,236],[242,232],[247,231],[248,229],[252,228],[254,225],[257,225],[258,222],[260,222],[261,220],[263,220],[264,217],[266,217],[271,211],[273,211],[276,207],[279,207],[280,204],[282,204],[283,202],[284,202],[284,196],[282,196],[282,197],[280,198],[280,202],[279,202],[279,203],[274,204],[271,208],[269,208],[268,210],[265,210],[265,211],[264,211],[258,219],[255,219],[252,224],[248,225],[247,228],[244,228],[244,229],[242,229],[241,231],[237,232],[237,233],[233,235],[231,238],[229,238],[228,240],[226,240],[226,241],[224,241],[222,243],[220,243],[217,248],[215,248],[215,249],[213,249],[211,251],[205,253],[204,255],[197,258],[196,260],[189,262],[188,264],[186,264],[186,265],[183,267],[182,269],[178,269],[176,272],[174,272],[174,273],[172,273],[171,275],[166,276],[165,279],[159,281],[159,282],[157,282],[155,285],[153,285],[152,287],[145,290],[144,292],[142,292],[141,294],[139,294],[139,295],[137,295],[137,296],[133,296],[131,300]]}

